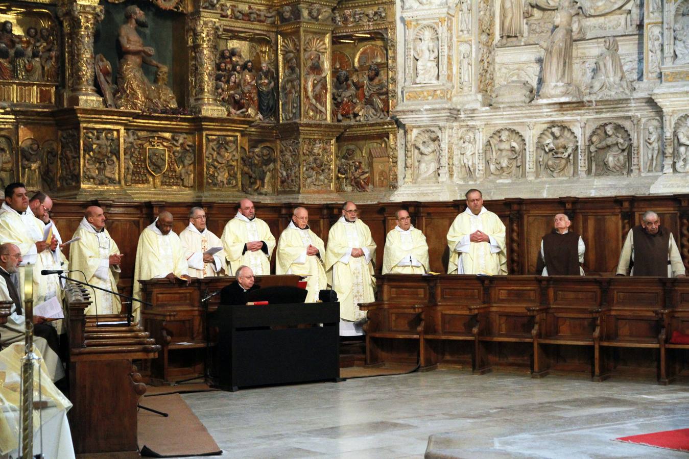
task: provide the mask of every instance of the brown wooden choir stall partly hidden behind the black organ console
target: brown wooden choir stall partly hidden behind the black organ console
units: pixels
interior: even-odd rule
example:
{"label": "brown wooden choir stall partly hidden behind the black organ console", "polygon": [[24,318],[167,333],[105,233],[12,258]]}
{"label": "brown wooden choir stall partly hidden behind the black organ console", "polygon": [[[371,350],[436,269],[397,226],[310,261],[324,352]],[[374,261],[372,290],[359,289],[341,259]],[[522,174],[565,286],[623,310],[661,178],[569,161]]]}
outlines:
{"label": "brown wooden choir stall partly hidden behind the black organ console", "polygon": [[[234,279],[234,276],[195,278],[188,285],[179,279],[174,284],[167,279],[140,281],[141,299],[153,305],[143,306],[141,321],[161,346],[157,359],[147,368],[152,384],[203,376],[207,337],[201,299],[232,284]],[[296,286],[299,279],[296,275],[258,276],[256,285]],[[209,312],[216,310],[219,302],[220,295],[209,299]]]}

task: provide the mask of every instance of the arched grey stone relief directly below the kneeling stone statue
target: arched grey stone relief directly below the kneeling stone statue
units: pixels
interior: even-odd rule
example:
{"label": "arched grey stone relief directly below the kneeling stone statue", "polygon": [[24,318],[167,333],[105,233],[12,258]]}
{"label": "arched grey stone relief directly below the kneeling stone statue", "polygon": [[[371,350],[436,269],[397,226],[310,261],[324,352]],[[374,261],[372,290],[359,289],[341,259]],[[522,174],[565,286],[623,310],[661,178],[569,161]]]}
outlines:
{"label": "arched grey stone relief directly below the kneeling stone statue", "polygon": [[588,138],[589,175],[628,175],[632,138],[617,122],[598,125]]}

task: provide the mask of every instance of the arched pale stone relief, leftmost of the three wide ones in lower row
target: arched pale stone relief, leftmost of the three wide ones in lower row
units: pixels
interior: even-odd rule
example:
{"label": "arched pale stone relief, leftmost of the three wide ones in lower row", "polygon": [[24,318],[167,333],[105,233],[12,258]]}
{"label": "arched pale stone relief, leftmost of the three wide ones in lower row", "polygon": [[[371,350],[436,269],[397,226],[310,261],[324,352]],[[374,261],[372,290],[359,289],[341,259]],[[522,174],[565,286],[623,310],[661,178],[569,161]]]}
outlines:
{"label": "arched pale stone relief, leftmost of the three wide ones in lower row", "polygon": [[522,177],[526,140],[512,128],[493,132],[484,145],[487,178]]}

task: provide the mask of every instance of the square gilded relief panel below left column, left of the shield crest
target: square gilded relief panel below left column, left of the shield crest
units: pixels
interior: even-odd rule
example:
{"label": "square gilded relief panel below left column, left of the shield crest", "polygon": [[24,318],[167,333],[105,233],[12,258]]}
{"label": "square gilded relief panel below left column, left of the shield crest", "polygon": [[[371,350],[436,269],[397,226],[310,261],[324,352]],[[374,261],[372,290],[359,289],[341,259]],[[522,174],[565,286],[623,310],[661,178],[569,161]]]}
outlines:
{"label": "square gilded relief panel below left column, left of the shield crest", "polygon": [[83,130],[85,184],[114,185],[120,182],[120,133],[115,129]]}

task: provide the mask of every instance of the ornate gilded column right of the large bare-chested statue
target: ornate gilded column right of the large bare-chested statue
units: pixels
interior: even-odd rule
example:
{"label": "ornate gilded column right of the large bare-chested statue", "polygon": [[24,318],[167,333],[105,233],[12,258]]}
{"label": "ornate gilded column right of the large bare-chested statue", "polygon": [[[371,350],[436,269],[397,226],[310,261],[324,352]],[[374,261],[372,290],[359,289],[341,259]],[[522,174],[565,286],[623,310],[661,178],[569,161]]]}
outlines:
{"label": "ornate gilded column right of the large bare-chested statue", "polygon": [[194,12],[187,17],[189,81],[192,82],[189,111],[198,116],[227,116],[214,92],[218,23],[205,14]]}

